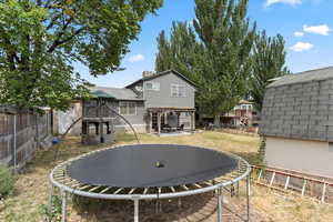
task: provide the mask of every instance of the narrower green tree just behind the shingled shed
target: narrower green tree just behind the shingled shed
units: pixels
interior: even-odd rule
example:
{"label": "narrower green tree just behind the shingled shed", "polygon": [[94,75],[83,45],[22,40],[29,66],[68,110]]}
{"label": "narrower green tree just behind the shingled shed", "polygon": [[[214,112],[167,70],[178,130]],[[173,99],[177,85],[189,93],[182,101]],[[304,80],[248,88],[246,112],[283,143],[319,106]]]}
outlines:
{"label": "narrower green tree just behind the shingled shed", "polygon": [[271,38],[263,31],[255,37],[250,94],[259,112],[262,109],[265,89],[271,80],[290,73],[285,67],[285,56],[282,36]]}

